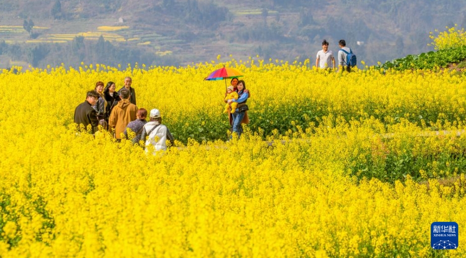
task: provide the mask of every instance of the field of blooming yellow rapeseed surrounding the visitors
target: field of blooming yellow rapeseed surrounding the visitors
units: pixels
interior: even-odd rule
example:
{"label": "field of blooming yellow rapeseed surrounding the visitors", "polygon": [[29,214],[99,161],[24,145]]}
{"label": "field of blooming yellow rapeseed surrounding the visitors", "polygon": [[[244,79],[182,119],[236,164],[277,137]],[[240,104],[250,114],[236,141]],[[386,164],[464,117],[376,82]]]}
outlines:
{"label": "field of blooming yellow rapeseed surrounding the visitors", "polygon": [[[231,142],[225,82],[203,81],[223,65],[251,92]],[[465,75],[308,66],[3,70],[0,257],[463,257],[430,225],[466,223]],[[125,76],[178,148],[76,133],[86,92]]]}

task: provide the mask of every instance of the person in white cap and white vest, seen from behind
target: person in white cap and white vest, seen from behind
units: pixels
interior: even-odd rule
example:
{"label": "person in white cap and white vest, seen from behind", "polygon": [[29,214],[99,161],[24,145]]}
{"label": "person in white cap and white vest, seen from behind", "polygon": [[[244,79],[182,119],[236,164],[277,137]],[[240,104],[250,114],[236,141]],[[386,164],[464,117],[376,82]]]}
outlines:
{"label": "person in white cap and white vest, seen from behind", "polygon": [[[152,109],[150,111],[150,121],[147,122],[142,128],[141,140],[145,141],[145,149],[150,145],[154,146],[154,152],[166,151],[167,140],[170,141],[171,146],[174,146],[175,139],[173,138],[167,126],[162,124],[162,116],[159,109]],[[146,136],[148,136],[146,140]]]}

